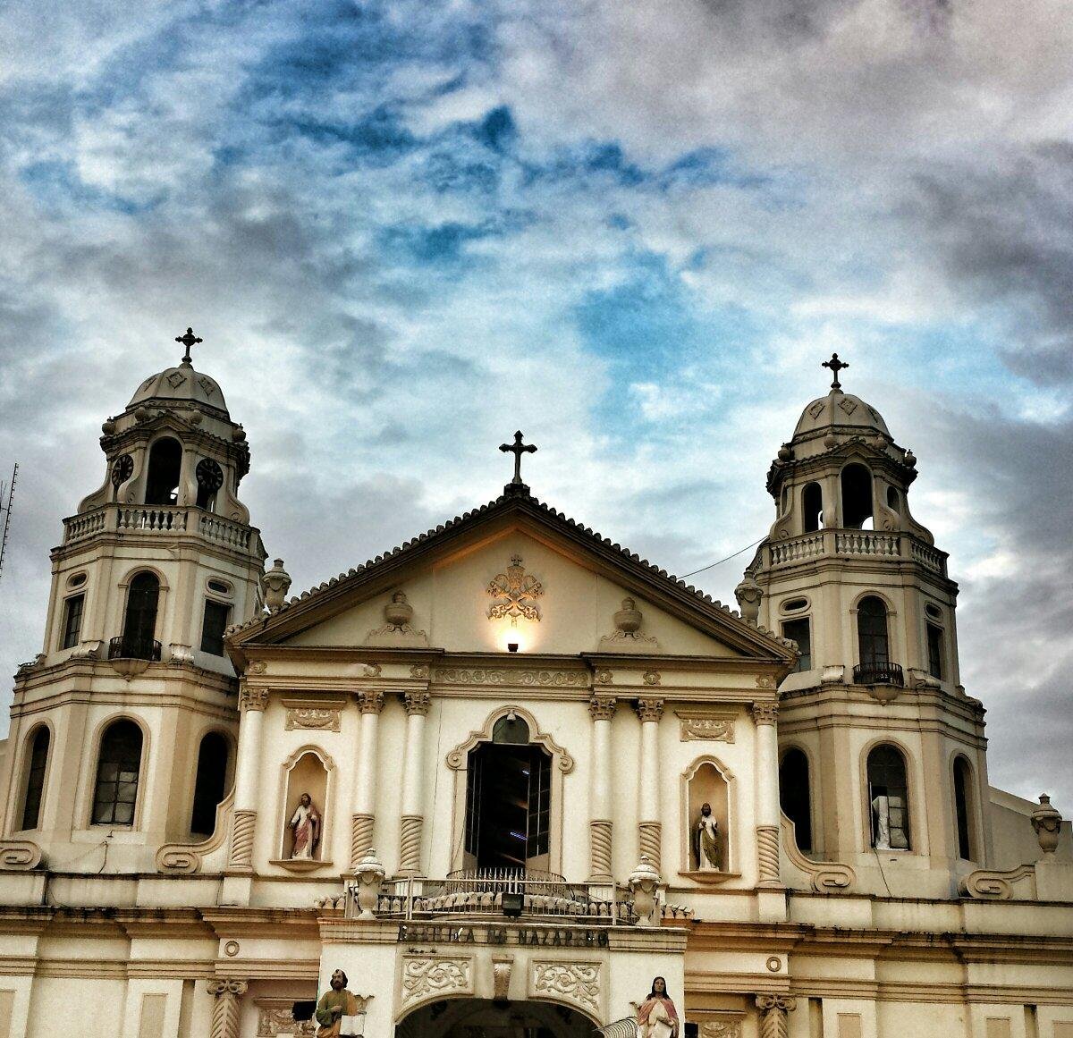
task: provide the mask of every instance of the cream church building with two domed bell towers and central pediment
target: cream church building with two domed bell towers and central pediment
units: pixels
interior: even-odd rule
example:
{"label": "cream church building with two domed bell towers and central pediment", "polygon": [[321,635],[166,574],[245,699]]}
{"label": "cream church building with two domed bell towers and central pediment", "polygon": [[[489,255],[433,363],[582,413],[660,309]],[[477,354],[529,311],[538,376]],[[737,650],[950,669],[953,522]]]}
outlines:
{"label": "cream church building with two domed bell towers and central pediment", "polygon": [[104,422],[15,679],[0,1038],[313,1035],[337,969],[367,1038],[636,1034],[656,977],[651,1036],[1073,1038],[1069,825],[988,783],[916,459],[837,355],[732,610],[536,500],[520,433],[495,501],[289,597],[199,341]]}

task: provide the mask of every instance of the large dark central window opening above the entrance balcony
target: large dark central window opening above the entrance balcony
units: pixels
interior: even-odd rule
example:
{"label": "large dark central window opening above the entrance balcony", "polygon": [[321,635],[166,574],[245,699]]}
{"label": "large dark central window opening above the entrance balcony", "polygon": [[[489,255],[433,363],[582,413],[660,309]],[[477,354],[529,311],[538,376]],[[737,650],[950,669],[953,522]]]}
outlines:
{"label": "large dark central window opening above the entrance balcony", "polygon": [[542,746],[485,742],[470,753],[466,851],[477,869],[524,870],[546,855],[550,819],[552,757]]}

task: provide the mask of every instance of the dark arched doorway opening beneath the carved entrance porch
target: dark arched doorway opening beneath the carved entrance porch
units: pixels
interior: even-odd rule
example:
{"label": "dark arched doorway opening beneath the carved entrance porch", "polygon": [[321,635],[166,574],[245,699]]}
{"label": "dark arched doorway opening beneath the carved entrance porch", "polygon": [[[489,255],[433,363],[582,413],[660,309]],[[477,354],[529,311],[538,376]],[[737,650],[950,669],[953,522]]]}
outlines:
{"label": "dark arched doorway opening beneath the carved entrance porch", "polygon": [[555,1003],[457,998],[414,1010],[399,1022],[395,1038],[592,1038],[596,1026]]}

